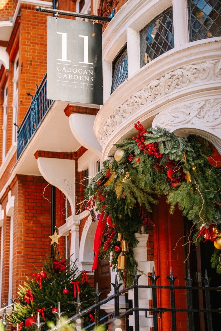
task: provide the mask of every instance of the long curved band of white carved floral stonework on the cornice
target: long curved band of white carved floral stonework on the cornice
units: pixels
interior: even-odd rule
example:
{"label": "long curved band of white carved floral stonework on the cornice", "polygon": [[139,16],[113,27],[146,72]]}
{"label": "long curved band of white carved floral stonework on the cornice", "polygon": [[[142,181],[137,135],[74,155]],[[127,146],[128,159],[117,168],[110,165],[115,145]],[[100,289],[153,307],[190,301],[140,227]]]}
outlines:
{"label": "long curved band of white carved floral stonework on the cornice", "polygon": [[163,77],[150,82],[142,90],[135,92],[132,97],[115,109],[104,123],[98,136],[101,146],[104,147],[111,134],[125,119],[144,106],[175,89],[182,89],[191,83],[198,84],[202,80],[221,80],[221,60],[206,61],[199,65],[189,65],[170,71]]}

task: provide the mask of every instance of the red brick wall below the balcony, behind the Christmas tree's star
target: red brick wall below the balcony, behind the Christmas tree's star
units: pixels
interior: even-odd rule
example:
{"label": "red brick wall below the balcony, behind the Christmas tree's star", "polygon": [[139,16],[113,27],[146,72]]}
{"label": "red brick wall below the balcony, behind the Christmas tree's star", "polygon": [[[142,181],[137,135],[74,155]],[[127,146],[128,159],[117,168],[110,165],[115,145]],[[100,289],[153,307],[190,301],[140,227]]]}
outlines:
{"label": "red brick wall below the balcony, behind the Christmas tree's star", "polygon": [[12,189],[12,194],[15,195],[14,295],[26,275],[32,274],[33,263],[40,268],[40,257],[44,258],[51,252],[48,237],[51,234],[51,204],[48,202],[51,201],[51,188],[50,185],[46,187],[47,184],[40,176],[18,175]]}

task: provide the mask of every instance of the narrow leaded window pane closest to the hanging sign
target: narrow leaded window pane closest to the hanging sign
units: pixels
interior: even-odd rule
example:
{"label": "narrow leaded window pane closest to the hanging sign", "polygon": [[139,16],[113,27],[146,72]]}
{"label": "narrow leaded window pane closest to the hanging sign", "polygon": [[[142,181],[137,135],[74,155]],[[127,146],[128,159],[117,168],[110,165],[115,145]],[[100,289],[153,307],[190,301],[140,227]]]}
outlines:
{"label": "narrow leaded window pane closest to the hanging sign", "polygon": [[111,93],[128,77],[127,48],[124,47],[113,61]]}

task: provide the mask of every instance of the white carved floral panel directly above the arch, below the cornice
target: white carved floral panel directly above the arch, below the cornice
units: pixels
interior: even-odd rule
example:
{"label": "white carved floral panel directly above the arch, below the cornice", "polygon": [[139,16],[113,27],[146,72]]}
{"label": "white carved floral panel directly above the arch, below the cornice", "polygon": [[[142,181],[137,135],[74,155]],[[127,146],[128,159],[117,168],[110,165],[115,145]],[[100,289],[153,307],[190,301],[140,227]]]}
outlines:
{"label": "white carved floral panel directly above the arch, below the cornice", "polygon": [[221,132],[221,99],[210,99],[172,108],[158,114],[152,126],[159,125],[173,131],[180,125],[203,126]]}

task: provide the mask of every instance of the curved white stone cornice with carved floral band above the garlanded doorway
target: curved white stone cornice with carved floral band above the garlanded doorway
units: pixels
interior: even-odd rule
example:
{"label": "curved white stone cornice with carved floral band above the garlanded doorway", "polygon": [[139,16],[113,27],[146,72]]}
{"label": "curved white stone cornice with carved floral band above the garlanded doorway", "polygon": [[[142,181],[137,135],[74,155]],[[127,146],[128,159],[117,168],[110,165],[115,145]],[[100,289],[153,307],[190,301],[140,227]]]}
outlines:
{"label": "curved white stone cornice with carved floral band above the garlanded doorway", "polygon": [[[208,61],[202,61],[203,53],[201,51],[203,49],[205,50],[205,45],[202,44],[193,46],[195,57],[191,58],[191,62],[189,58],[184,58],[180,61],[178,54],[175,53],[173,53],[173,56],[172,53],[170,56],[165,55],[165,61],[155,61],[154,63],[153,60],[149,66],[145,66],[139,73],[134,75],[130,80],[123,82],[121,84],[122,86],[119,86],[113,92],[98,113],[94,125],[97,139],[103,147],[104,159],[109,155],[112,145],[118,142],[120,137],[123,138],[124,134],[128,132],[129,125],[132,125],[132,128],[133,123],[138,119],[140,120],[144,114],[146,118],[148,116],[151,118],[152,116],[153,120],[153,116],[157,114],[157,110],[172,100],[179,100],[183,96],[189,95],[192,95],[192,99],[194,100],[195,95],[201,91],[205,91],[206,93],[206,91],[213,90],[216,91],[217,95],[220,93],[221,60],[218,59],[220,49],[218,50],[217,44],[220,44],[220,41],[217,43],[211,42],[210,46],[214,46],[215,52],[210,53],[210,59]],[[190,48],[189,50],[183,49],[180,57],[182,57],[182,53],[188,53]],[[198,54],[196,49],[199,50]],[[211,59],[211,56],[215,53],[217,53],[215,58]],[[196,54],[198,55],[197,58]],[[166,61],[168,56],[170,62]],[[173,65],[175,69],[172,69],[172,59],[175,61]],[[185,65],[181,66],[181,64]],[[153,71],[154,68],[155,71]],[[160,72],[164,74],[159,76]],[[145,76],[144,73],[146,73]],[[135,89],[136,91],[134,91]],[[123,101],[125,99],[126,101],[120,103],[121,100]],[[152,112],[154,109],[156,110],[155,114]],[[152,121],[150,125],[151,123]]]}

